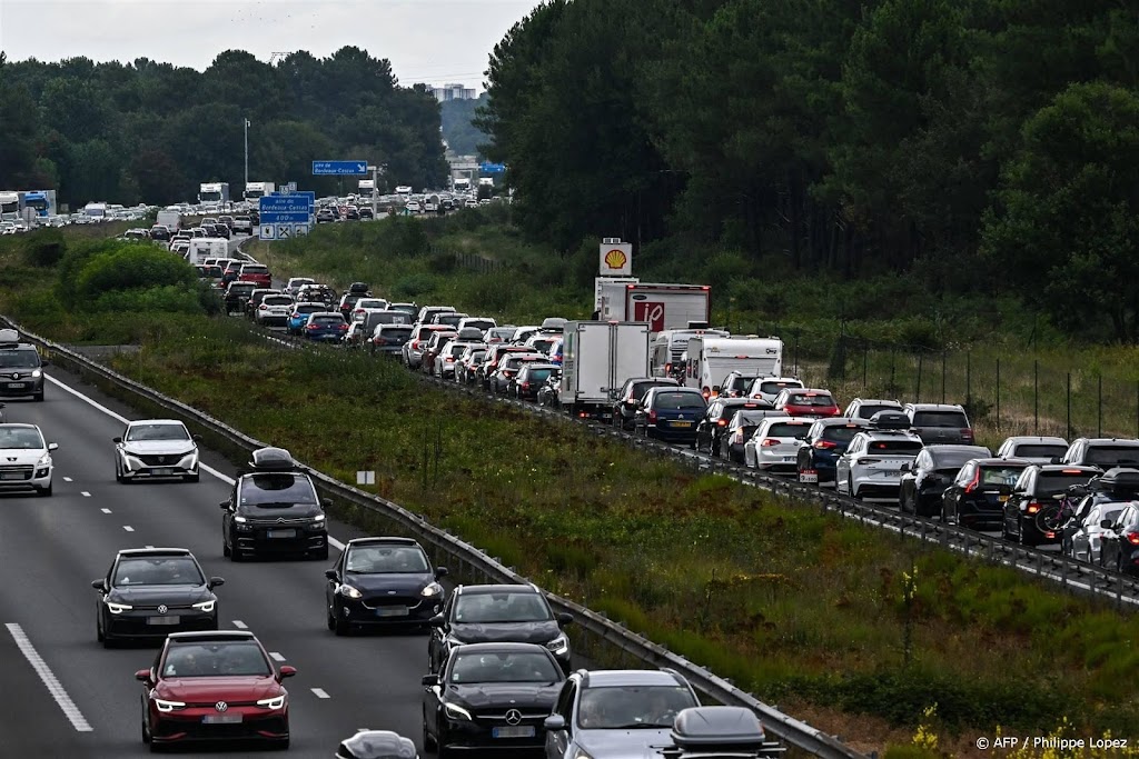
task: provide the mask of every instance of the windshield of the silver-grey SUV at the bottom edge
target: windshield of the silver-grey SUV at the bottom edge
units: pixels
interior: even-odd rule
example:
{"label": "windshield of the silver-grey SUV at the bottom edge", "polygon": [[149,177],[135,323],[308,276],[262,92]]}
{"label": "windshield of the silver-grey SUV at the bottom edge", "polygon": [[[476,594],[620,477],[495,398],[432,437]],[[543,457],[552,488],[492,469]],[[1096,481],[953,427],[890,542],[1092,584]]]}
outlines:
{"label": "windshield of the silver-grey SUV at the bottom edge", "polygon": [[679,685],[622,685],[589,687],[577,703],[577,726],[583,729],[672,727],[682,709],[698,706]]}

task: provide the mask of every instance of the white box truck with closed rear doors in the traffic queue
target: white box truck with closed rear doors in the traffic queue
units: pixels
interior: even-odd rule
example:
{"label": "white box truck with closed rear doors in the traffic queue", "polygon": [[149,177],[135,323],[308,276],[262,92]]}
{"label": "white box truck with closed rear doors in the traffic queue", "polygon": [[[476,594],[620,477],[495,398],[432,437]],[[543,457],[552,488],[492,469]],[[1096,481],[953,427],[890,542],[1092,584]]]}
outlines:
{"label": "white box truck with closed rear doors in the traffic queue", "polygon": [[607,415],[625,380],[647,376],[647,324],[568,321],[562,336],[558,403],[574,416]]}

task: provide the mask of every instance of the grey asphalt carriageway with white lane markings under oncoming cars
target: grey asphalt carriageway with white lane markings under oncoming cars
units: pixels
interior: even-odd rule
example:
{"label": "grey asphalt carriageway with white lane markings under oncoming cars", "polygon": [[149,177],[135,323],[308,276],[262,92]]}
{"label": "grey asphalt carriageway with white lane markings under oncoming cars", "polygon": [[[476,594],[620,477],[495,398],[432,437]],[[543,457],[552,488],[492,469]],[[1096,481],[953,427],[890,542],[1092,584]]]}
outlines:
{"label": "grey asphalt carriageway with white lane markings under oncoming cars", "polygon": [[[91,588],[116,551],[145,546],[190,548],[207,575],[226,578],[218,589],[222,629],[253,630],[279,663],[300,670],[286,680],[289,756],[325,759],[359,728],[394,729],[421,744],[425,634],[334,637],[323,617],[330,562],[222,558],[218,504],[228,495],[231,464],[203,451],[210,468],[200,482],[118,485],[112,438],[138,414],[57,368],[49,382],[44,403],[9,401],[6,409],[9,421],[39,424],[59,449],[54,496],[0,495],[0,757],[148,753],[134,671],[150,666],[156,649],[104,650]],[[358,535],[336,521],[329,534],[334,558]]]}

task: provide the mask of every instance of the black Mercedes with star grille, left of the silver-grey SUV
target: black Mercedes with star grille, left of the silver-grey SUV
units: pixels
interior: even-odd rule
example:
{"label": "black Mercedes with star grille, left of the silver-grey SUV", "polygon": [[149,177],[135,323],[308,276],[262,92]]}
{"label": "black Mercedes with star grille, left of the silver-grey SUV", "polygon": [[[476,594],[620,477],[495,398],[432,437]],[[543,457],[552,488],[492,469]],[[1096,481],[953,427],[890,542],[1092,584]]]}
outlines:
{"label": "black Mercedes with star grille, left of the silver-grey SUV", "polygon": [[437,674],[423,678],[424,746],[440,759],[454,756],[452,749],[541,749],[543,723],[564,680],[540,645],[458,646]]}

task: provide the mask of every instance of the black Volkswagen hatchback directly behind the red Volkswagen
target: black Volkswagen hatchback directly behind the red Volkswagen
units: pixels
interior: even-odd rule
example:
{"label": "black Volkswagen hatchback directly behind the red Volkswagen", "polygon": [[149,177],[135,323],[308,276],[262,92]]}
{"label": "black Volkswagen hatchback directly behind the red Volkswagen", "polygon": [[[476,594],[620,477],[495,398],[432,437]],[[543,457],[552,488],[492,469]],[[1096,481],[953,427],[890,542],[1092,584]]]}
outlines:
{"label": "black Volkswagen hatchback directly behind the red Volkswagen", "polygon": [[96,636],[109,649],[118,641],[162,641],[170,633],[218,629],[220,577],[206,578],[186,548],[129,548],[110,562],[99,592]]}

